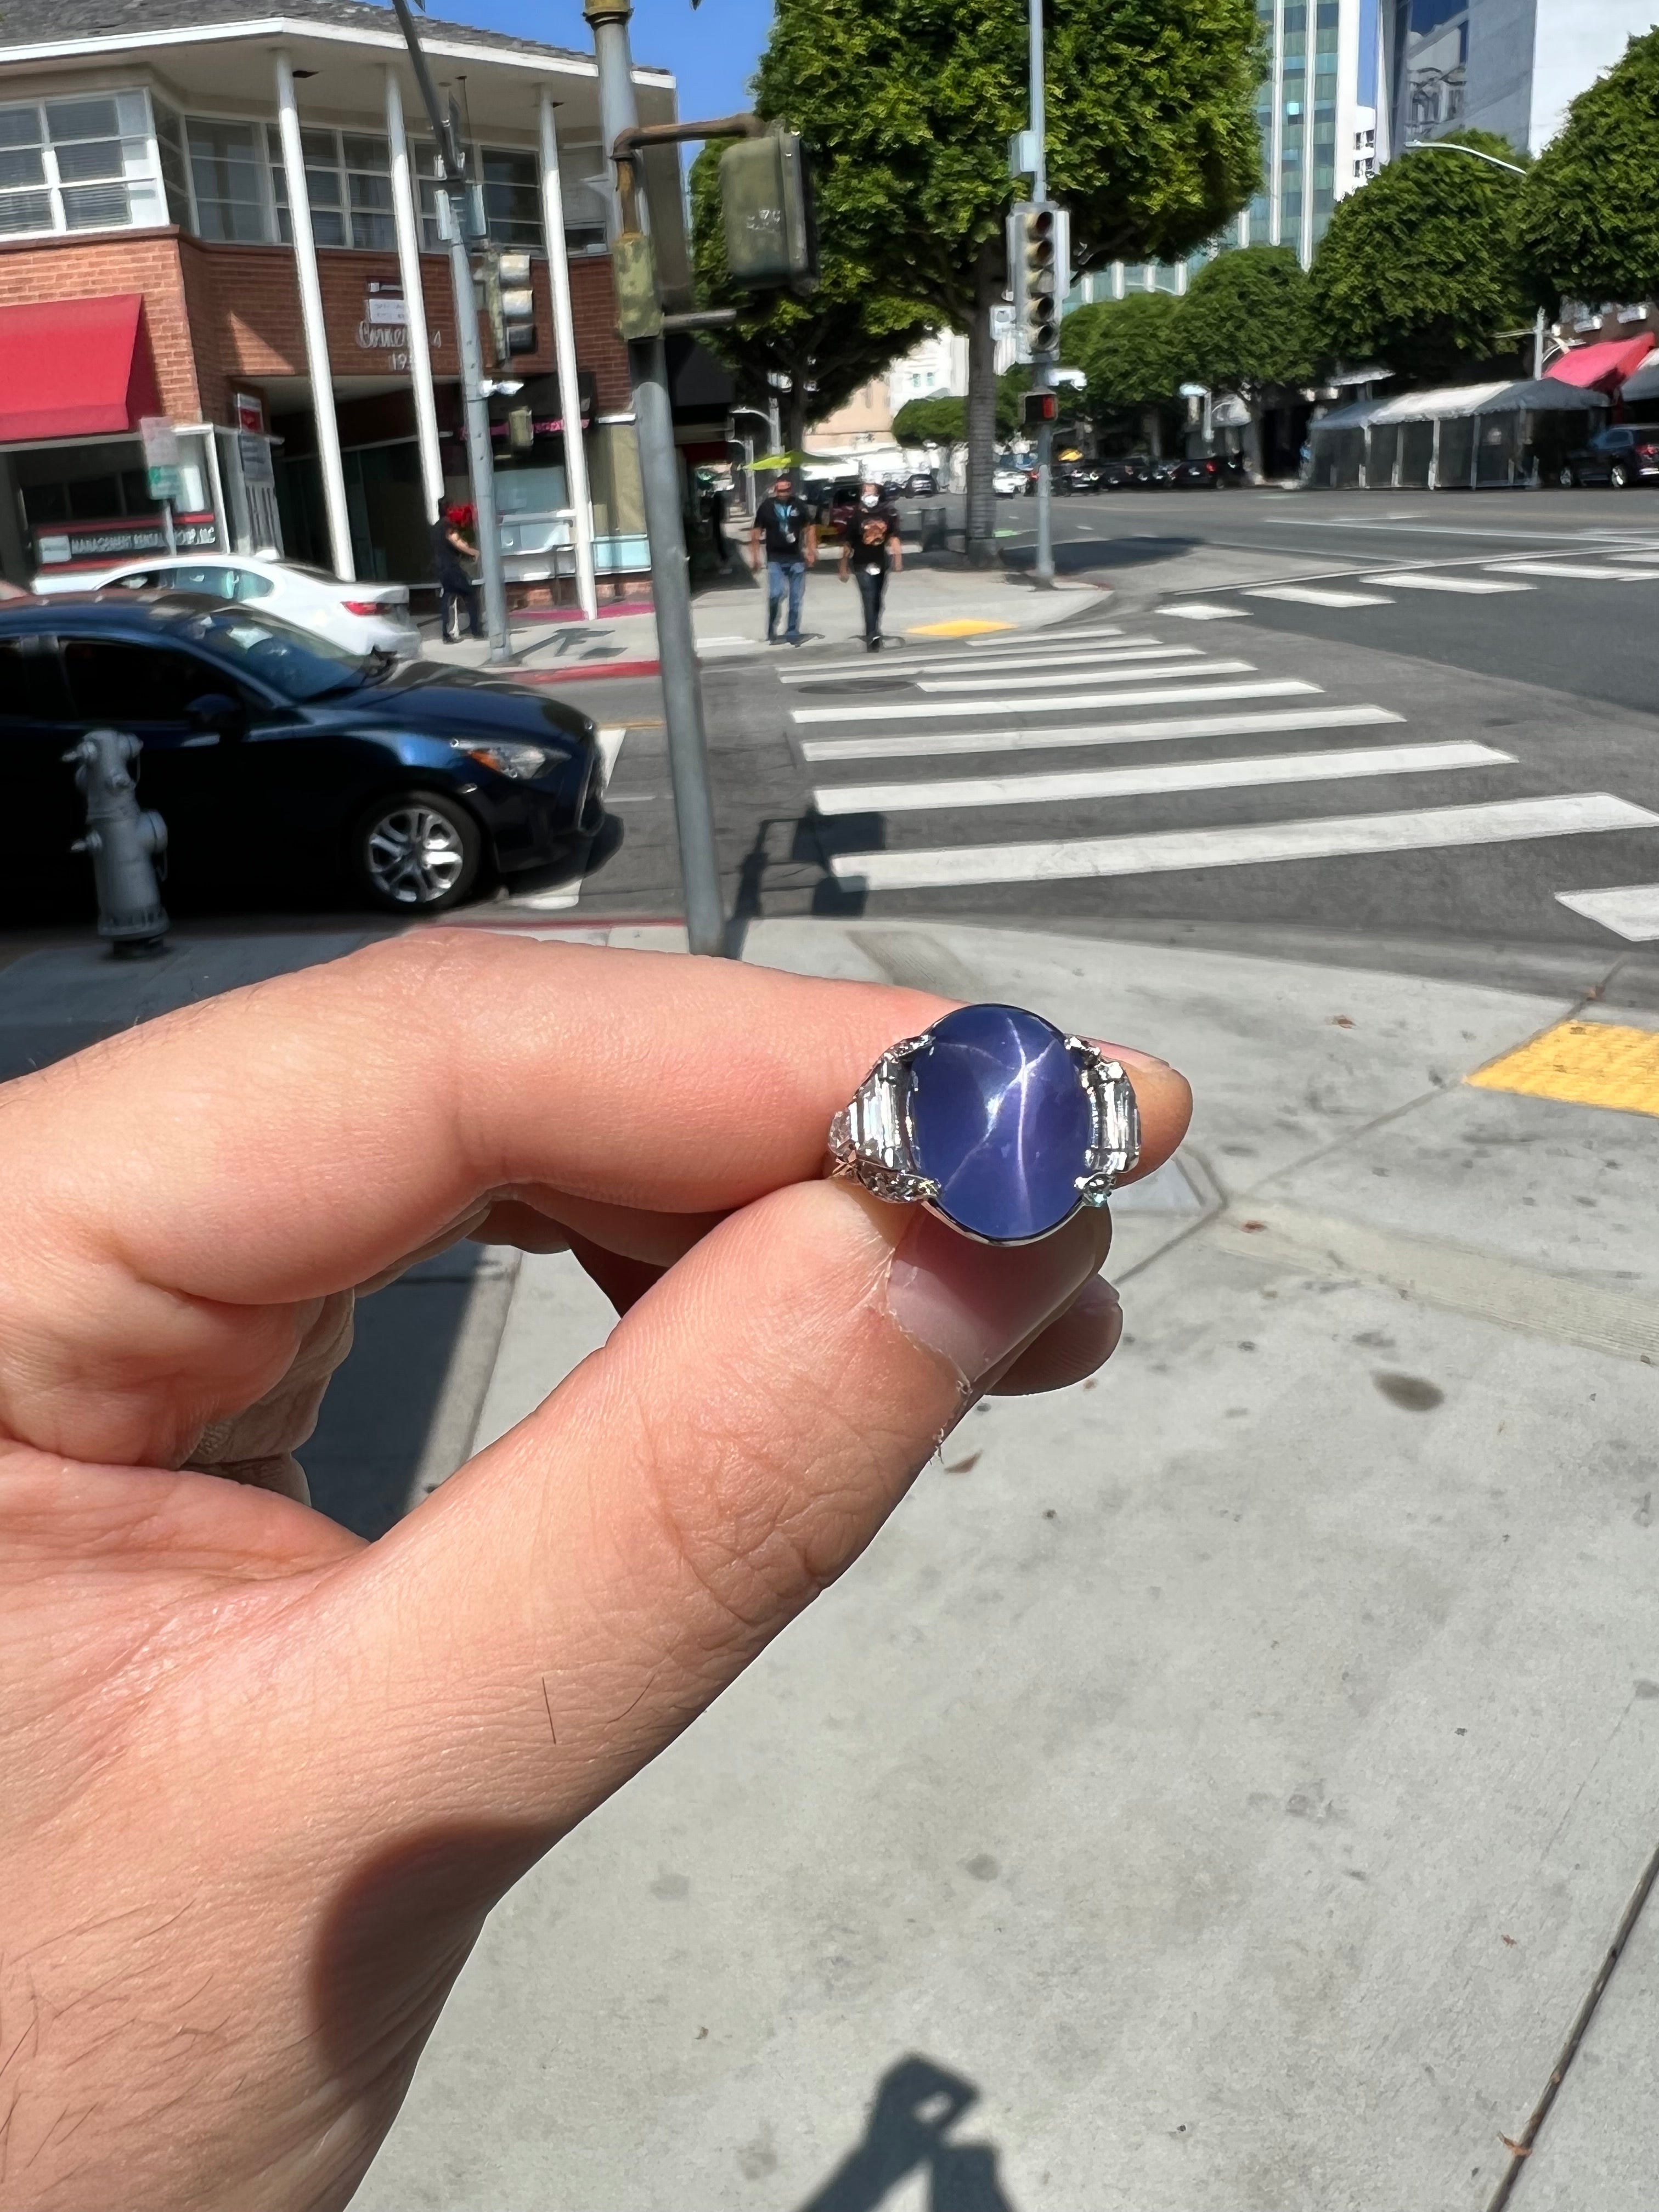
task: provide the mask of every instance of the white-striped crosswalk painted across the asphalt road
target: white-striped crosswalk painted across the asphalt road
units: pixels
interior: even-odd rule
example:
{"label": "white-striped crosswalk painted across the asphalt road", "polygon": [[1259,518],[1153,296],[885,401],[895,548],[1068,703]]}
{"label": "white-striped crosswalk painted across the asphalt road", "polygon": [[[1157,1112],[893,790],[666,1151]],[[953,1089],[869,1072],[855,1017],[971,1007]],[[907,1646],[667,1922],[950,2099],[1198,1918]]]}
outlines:
{"label": "white-striped crosswalk painted across the asphalt road", "polygon": [[[1334,584],[1314,604],[1367,606],[1380,582]],[[1400,575],[1387,582],[1398,588]],[[1520,577],[1458,573],[1458,588],[1467,584],[1528,588]],[[1232,611],[1194,608],[1210,619]],[[792,668],[781,684],[787,730],[812,812],[825,821],[834,878],[869,894],[967,889],[1329,858],[1363,865],[1630,832],[1650,838],[1639,849],[1659,874],[1659,812],[1617,792],[1540,794],[1515,752],[1416,734],[1383,701],[1332,699],[1307,675],[1175,644],[1161,626],[1157,615],[1135,630],[1055,630],[1042,650],[1026,635],[949,657],[883,655],[876,670],[869,661]],[[1060,765],[1057,752],[1093,759]],[[1526,779],[1520,792],[1517,779]],[[1371,785],[1374,810],[1354,810],[1356,785]],[[991,825],[998,834],[987,834]],[[1033,834],[1042,830],[1051,834]],[[1577,858],[1557,854],[1551,867],[1573,872],[1551,894],[1595,918],[1601,894],[1577,889],[1595,876],[1586,845],[1566,849]],[[1628,865],[1630,847],[1617,852]],[[1628,929],[1646,927],[1655,905],[1637,891],[1626,885],[1617,907]]]}

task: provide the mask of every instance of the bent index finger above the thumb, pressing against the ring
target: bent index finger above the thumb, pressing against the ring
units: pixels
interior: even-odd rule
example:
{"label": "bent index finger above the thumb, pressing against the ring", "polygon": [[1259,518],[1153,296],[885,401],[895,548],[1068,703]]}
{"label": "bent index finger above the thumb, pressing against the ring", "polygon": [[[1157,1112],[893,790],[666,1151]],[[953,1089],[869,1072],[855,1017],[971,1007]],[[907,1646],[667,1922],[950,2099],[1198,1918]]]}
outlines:
{"label": "bent index finger above the thumb, pressing against the ring", "polygon": [[[199,1425],[283,1371],[292,1327],[252,1310],[363,1283],[491,1192],[719,1214],[814,1177],[832,1113],[945,1006],[431,931],[24,1077],[0,1093],[0,1420],[77,1458],[166,1460],[177,1422],[159,1409],[181,1374]],[[1152,1168],[1186,1126],[1186,1084],[1113,1051]],[[88,1422],[91,1405],[131,1418]]]}

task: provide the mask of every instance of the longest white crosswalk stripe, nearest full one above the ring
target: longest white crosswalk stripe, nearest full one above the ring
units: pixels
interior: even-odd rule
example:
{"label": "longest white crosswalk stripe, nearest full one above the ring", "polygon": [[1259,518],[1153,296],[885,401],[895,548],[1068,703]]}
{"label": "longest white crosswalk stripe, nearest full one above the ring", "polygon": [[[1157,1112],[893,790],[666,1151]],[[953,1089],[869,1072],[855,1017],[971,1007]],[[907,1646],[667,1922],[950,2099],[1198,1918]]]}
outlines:
{"label": "longest white crosswalk stripe, nearest full one above the ring", "polygon": [[1152,876],[1186,867],[1263,860],[1332,860],[1349,854],[1504,845],[1515,838],[1652,830],[1659,814],[1610,792],[1495,799],[1467,807],[1336,814],[1318,821],[1239,823],[1225,830],[1155,830],[1141,836],[1046,838],[1033,845],[945,845],[925,852],[847,852],[830,865],[841,883],[914,891],[975,883],[1053,883],[1077,876]]}

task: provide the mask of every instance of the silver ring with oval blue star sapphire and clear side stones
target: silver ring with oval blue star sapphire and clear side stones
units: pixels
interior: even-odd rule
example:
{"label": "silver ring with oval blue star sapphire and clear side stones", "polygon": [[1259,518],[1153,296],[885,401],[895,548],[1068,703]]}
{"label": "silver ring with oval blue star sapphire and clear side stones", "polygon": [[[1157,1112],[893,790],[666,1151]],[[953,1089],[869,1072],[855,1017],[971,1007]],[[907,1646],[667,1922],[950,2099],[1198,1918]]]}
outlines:
{"label": "silver ring with oval blue star sapphire and clear side stones", "polygon": [[980,1243],[1053,1237],[1141,1157],[1121,1062],[1022,1006],[958,1006],[889,1044],[830,1124],[830,1172]]}

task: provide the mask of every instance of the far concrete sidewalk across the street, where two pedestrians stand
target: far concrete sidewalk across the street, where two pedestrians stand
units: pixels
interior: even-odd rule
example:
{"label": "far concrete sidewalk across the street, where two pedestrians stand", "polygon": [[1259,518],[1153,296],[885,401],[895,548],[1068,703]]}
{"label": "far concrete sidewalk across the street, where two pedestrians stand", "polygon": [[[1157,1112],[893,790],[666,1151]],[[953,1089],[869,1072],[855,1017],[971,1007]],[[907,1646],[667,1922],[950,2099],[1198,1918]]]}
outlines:
{"label": "far concrete sidewalk across the street, where two pedestrians stand", "polygon": [[[803,628],[821,646],[863,641],[858,593],[852,582],[838,582],[838,557],[836,546],[825,546],[807,575]],[[916,555],[889,582],[885,617],[891,635],[925,644],[929,637],[1044,628],[1091,606],[1108,608],[1110,593],[1064,577],[1055,591],[1035,591],[1029,577],[1011,568],[964,568]],[[692,628],[703,661],[765,655],[765,573],[757,577],[743,564],[737,575],[699,586]],[[650,613],[608,615],[604,606],[597,624],[518,619],[511,648],[518,668],[535,677],[639,675],[644,664],[657,659],[657,619]],[[476,639],[447,646],[436,637],[422,648],[427,659],[460,668],[484,666],[487,650]]]}

